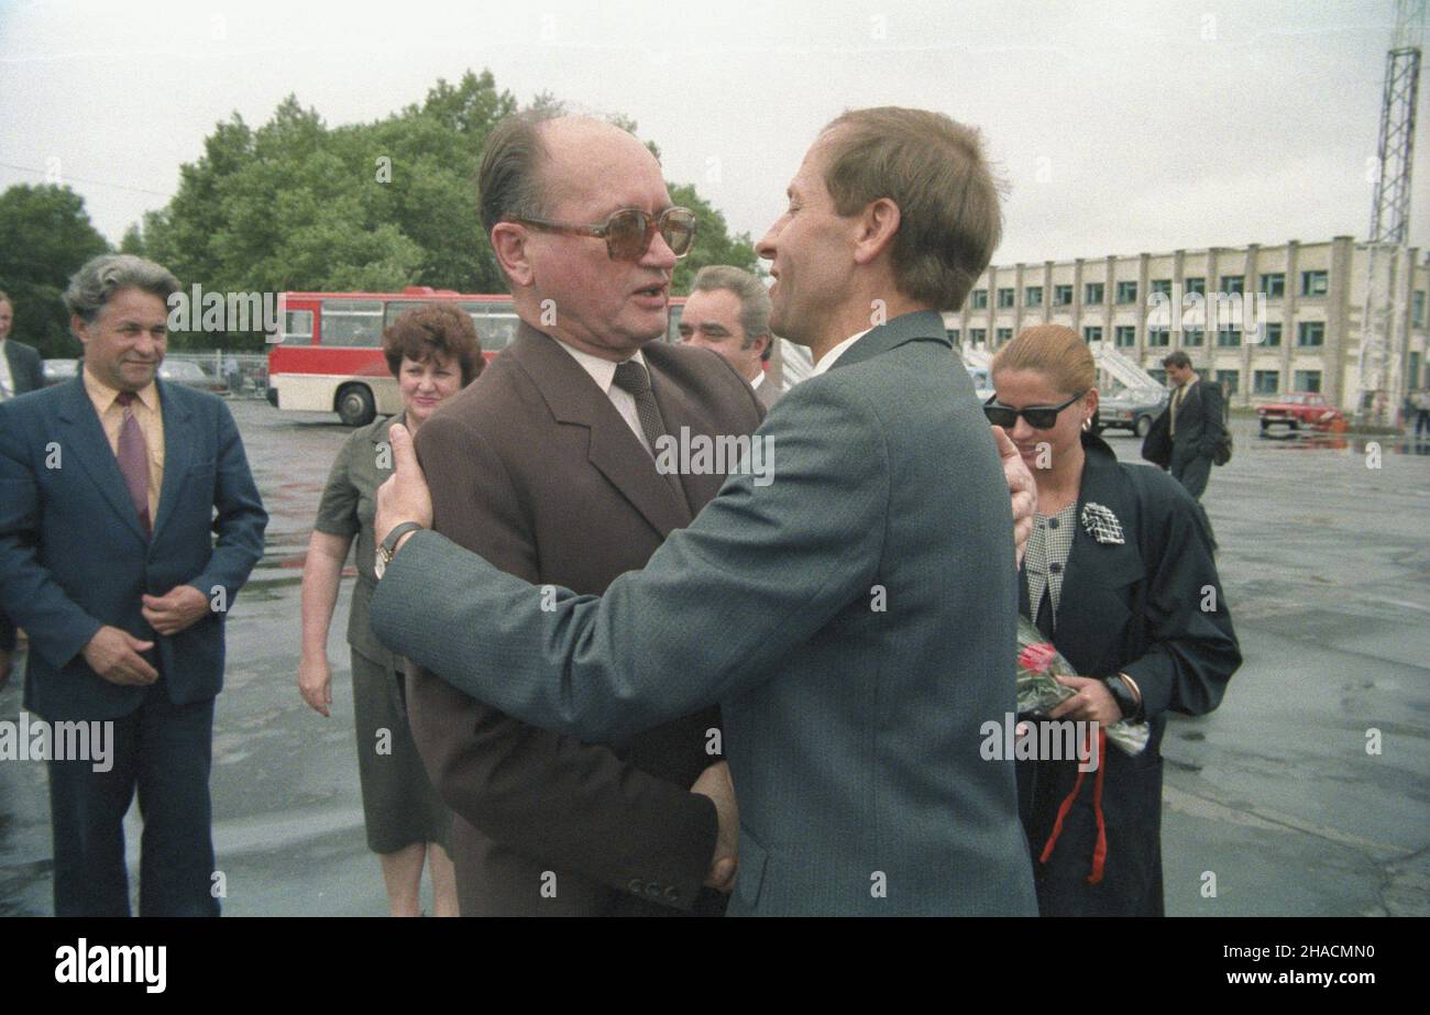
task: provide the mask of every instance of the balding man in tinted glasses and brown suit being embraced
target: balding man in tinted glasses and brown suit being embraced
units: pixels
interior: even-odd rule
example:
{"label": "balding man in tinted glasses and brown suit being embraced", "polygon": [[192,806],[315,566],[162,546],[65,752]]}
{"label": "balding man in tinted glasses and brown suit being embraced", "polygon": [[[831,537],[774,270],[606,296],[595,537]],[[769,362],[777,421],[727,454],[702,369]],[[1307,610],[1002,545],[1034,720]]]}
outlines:
{"label": "balding man in tinted glasses and brown suit being embraced", "polygon": [[[648,412],[664,433],[709,436],[749,435],[762,412],[722,359],[658,340],[672,246],[684,253],[694,224],[671,209],[659,164],[635,137],[582,119],[508,120],[486,142],[479,192],[522,323],[419,432],[436,528],[529,582],[603,592],[725,477],[661,475]],[[648,224],[582,234],[622,209]],[[716,808],[734,802],[718,709],[583,743],[420,670],[409,672],[409,703],[456,815],[463,916],[724,911],[711,888],[734,861],[719,878],[711,866]]]}

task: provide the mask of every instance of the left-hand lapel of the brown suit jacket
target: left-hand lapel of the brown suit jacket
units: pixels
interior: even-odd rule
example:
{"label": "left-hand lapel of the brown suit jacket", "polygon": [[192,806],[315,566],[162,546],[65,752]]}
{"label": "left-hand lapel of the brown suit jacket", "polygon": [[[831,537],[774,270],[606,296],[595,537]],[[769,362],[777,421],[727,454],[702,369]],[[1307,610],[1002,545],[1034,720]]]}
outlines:
{"label": "left-hand lapel of the brown suit jacket", "polygon": [[[589,432],[586,453],[591,465],[662,539],[689,523],[689,506],[679,500],[666,477],[655,470],[655,460],[573,356],[558,347],[555,339],[525,322],[516,330],[511,355],[541,392],[558,423],[581,426]],[[661,405],[659,397],[656,405]],[[669,425],[666,419],[666,426]]]}

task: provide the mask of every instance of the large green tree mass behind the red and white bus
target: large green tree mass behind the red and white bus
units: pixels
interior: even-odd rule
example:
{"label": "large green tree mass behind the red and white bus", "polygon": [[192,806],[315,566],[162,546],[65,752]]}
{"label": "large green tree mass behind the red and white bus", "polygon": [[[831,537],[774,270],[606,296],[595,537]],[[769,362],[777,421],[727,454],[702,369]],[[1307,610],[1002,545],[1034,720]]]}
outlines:
{"label": "large green tree mass behind the red and white bus", "polygon": [[[126,249],[206,292],[506,292],[480,224],[476,174],[488,134],[516,109],[490,71],[469,70],[373,123],[329,127],[296,96],[257,129],[235,113],[214,126],[203,156],[182,167],[169,204],[126,234]],[[528,109],[565,106],[543,91]],[[636,129],[628,117],[613,122]],[[702,264],[754,266],[749,237],[731,237],[694,186],[672,194],[699,216],[695,250],[676,269],[678,292]],[[174,335],[172,343],[262,349],[263,336]]]}

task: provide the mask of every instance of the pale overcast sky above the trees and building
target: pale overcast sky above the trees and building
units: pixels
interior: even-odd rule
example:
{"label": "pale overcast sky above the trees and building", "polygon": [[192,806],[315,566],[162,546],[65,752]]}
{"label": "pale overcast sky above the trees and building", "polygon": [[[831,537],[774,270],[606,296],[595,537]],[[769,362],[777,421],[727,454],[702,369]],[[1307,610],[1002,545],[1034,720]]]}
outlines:
{"label": "pale overcast sky above the trees and building", "polygon": [[755,239],[818,129],[879,104],[982,129],[1010,187],[997,263],[1360,239],[1393,11],[1391,0],[0,0],[0,189],[57,172],[117,243],[235,110],[257,126],[292,91],[329,126],[366,122],[420,102],[438,77],[490,69],[522,103],[549,90],[633,117],[668,179],[696,183]]}

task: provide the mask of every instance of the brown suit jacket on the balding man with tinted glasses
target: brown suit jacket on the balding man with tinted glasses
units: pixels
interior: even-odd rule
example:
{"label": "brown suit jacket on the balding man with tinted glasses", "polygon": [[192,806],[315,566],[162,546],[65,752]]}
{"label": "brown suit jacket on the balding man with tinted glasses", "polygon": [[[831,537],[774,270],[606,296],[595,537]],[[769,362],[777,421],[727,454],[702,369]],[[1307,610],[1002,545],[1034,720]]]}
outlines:
{"label": "brown suit jacket on the balding man with tinted glasses", "polygon": [[[648,345],[666,429],[754,433],[764,410],[724,359]],[[433,523],[529,582],[599,595],[644,568],[719,490],[724,475],[682,476],[684,497],[591,375],[522,325],[515,342],[416,437]],[[418,749],[453,809],[462,915],[719,914],[701,888],[715,808],[689,792],[718,758],[719,709],[633,738],[588,745],[526,726],[408,672]]]}

